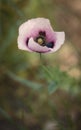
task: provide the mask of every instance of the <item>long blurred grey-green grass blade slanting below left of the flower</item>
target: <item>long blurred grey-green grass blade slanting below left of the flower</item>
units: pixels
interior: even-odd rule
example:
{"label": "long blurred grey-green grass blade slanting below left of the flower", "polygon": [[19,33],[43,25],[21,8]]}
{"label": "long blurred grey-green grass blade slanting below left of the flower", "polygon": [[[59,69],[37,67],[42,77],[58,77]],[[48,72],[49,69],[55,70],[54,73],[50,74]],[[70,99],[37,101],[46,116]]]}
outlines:
{"label": "long blurred grey-green grass blade slanting below left of the flower", "polygon": [[21,83],[21,84],[23,84],[27,87],[30,87],[30,88],[33,88],[33,89],[38,89],[38,90],[42,87],[41,84],[29,81],[29,80],[24,79],[24,78],[21,78],[21,77],[15,75],[14,73],[12,73],[11,71],[7,71],[7,75],[10,78],[12,78],[13,80],[18,81],[19,83]]}

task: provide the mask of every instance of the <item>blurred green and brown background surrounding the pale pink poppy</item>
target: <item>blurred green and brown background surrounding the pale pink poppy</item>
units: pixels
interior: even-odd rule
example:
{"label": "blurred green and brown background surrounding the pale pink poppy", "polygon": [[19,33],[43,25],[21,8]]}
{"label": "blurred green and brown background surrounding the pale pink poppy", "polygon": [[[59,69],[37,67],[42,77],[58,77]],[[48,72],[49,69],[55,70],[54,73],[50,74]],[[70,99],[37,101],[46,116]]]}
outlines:
{"label": "blurred green and brown background surrounding the pale pink poppy", "polygon": [[[35,17],[66,33],[42,60],[17,47],[19,26]],[[0,36],[0,130],[80,130],[81,0],[0,0]]]}

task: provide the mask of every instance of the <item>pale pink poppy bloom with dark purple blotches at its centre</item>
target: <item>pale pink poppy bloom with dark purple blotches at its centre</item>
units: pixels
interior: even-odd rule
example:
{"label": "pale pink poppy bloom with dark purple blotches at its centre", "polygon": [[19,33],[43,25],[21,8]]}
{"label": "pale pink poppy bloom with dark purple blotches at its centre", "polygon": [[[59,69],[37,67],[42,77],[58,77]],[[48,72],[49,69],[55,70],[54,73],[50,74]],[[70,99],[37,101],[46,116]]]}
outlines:
{"label": "pale pink poppy bloom with dark purple blotches at its centre", "polygon": [[30,19],[19,27],[18,48],[29,52],[52,53],[64,43],[65,33],[55,32],[45,18]]}

